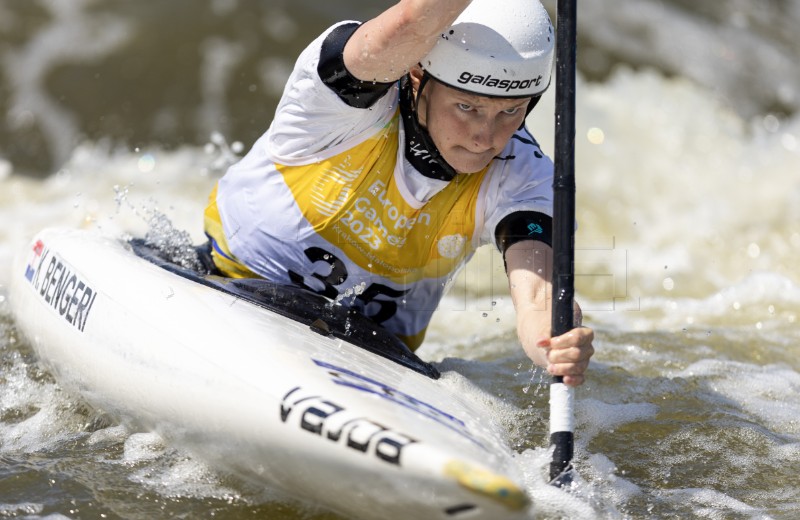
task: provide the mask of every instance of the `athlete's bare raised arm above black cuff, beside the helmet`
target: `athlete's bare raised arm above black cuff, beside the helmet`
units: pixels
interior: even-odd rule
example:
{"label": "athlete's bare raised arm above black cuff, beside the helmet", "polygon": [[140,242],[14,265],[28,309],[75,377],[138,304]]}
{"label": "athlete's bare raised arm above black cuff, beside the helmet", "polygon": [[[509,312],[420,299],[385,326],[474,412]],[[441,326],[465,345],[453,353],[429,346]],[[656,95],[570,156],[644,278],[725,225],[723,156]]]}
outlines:
{"label": "athlete's bare raised arm above black cuff, beside the helmet", "polygon": [[470,2],[400,0],[356,30],[344,48],[347,70],[363,81],[400,79]]}

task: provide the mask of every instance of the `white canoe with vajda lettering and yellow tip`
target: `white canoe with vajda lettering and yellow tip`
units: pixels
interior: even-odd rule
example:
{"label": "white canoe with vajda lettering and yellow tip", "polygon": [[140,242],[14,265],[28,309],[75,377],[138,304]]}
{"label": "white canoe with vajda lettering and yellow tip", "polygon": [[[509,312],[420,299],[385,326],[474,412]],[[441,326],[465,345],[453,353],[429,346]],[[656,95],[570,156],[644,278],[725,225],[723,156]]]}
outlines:
{"label": "white canoe with vajda lettering and yellow tip", "polygon": [[63,386],[348,517],[530,515],[494,422],[371,322],[141,256],[152,252],[47,229],[18,255],[15,318]]}

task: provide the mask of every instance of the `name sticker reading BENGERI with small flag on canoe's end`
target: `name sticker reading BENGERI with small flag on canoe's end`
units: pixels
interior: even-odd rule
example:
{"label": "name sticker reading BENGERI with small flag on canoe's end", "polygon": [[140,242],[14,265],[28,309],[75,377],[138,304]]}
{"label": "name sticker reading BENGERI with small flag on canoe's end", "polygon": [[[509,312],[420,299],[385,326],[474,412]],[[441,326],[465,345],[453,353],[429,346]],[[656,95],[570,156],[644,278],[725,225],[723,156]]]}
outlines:
{"label": "name sticker reading BENGERI with small flag on canoe's end", "polygon": [[59,316],[83,332],[91,314],[95,291],[82,280],[69,264],[52,253],[41,240],[32,248],[25,268],[25,278],[36,293]]}

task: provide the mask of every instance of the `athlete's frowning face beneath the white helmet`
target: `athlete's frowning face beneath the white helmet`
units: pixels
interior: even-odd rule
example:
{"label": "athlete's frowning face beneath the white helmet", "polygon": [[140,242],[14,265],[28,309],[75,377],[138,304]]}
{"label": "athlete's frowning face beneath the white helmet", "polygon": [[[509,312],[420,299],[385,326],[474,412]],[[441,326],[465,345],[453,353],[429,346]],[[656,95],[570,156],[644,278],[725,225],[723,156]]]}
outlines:
{"label": "athlete's frowning face beneath the white helmet", "polygon": [[473,173],[505,148],[529,101],[477,96],[431,80],[417,98],[418,117],[444,160],[459,173]]}

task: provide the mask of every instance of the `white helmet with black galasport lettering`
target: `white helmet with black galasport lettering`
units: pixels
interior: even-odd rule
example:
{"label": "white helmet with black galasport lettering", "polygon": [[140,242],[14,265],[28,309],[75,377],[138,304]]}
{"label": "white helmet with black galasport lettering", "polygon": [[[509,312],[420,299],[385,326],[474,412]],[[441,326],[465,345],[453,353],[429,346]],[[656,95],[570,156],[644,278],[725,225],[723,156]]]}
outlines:
{"label": "white helmet with black galasport lettering", "polygon": [[457,89],[532,97],[550,84],[554,48],[553,24],[538,0],[473,0],[421,65]]}

